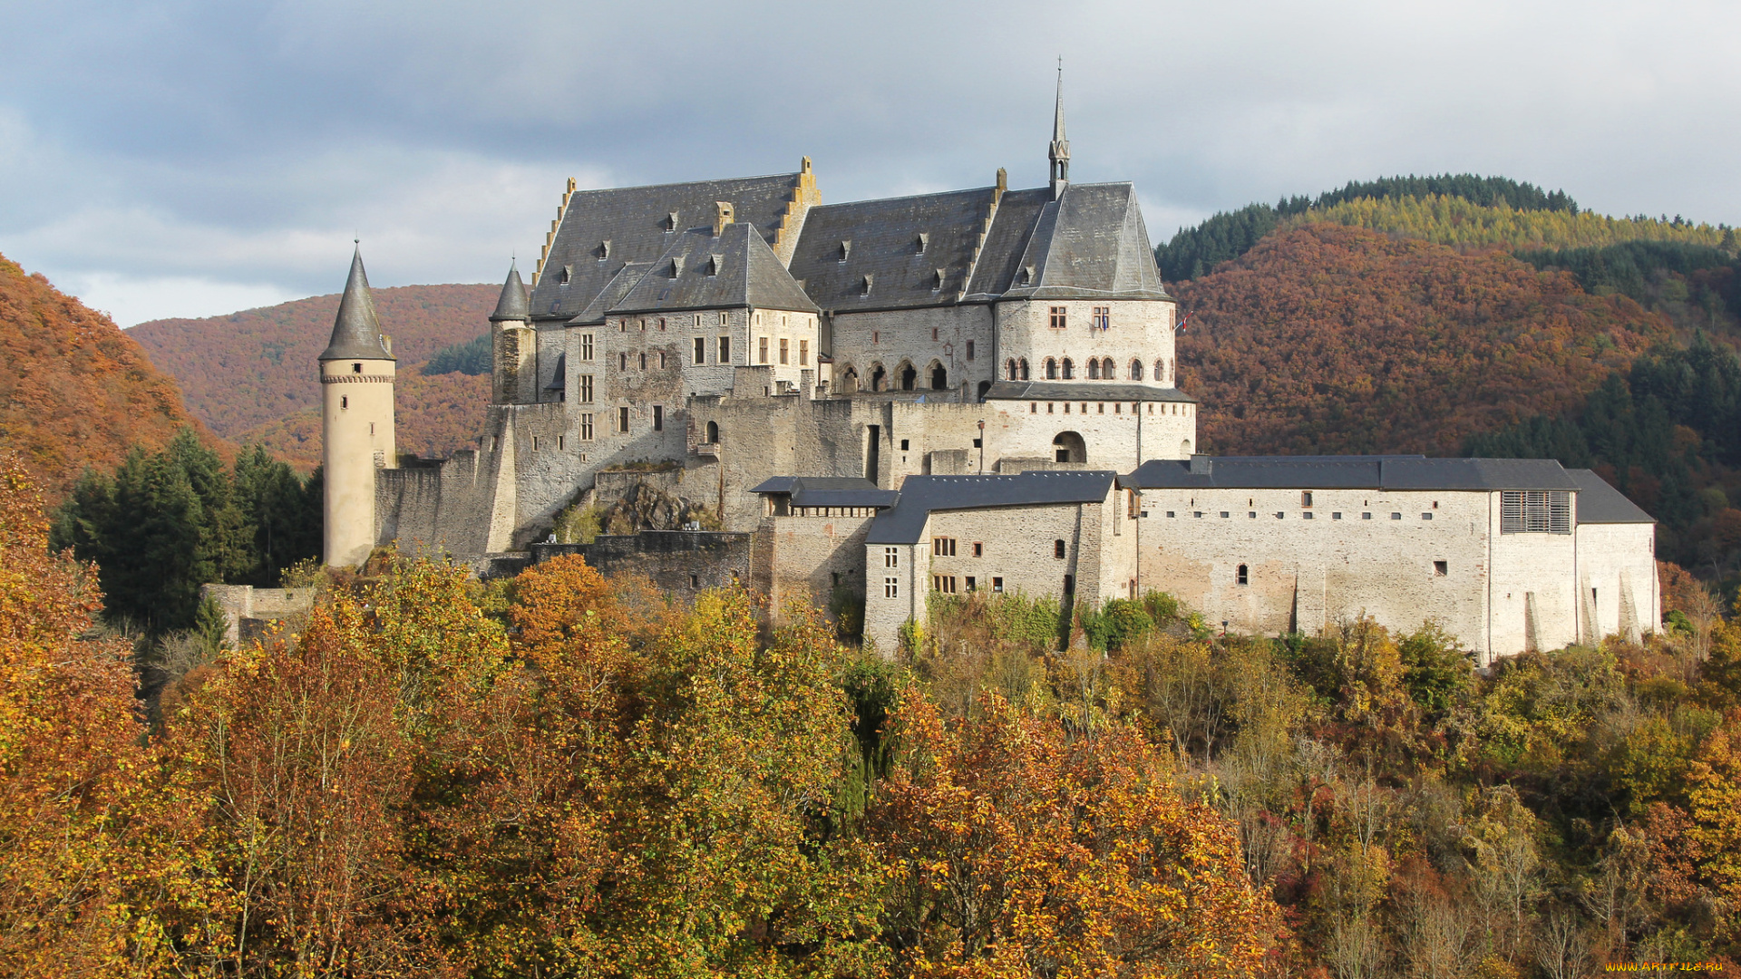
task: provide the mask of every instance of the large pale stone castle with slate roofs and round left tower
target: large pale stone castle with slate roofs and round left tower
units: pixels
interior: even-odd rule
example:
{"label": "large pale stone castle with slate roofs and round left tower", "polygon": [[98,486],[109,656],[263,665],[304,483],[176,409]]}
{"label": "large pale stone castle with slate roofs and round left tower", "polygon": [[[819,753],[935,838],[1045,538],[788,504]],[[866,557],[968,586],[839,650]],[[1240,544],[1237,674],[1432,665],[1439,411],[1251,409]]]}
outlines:
{"label": "large pale stone castle with slate roofs and round left tower", "polygon": [[[326,561],[548,554],[648,484],[717,533],[601,538],[674,592],[843,589],[893,650],[930,592],[1168,591],[1233,631],[1426,617],[1485,658],[1659,622],[1654,523],[1551,460],[1210,458],[1130,183],[822,204],[797,172],[576,190],[489,317],[475,449],[400,460],[360,254],[320,354]],[[571,547],[573,549],[573,547]]]}

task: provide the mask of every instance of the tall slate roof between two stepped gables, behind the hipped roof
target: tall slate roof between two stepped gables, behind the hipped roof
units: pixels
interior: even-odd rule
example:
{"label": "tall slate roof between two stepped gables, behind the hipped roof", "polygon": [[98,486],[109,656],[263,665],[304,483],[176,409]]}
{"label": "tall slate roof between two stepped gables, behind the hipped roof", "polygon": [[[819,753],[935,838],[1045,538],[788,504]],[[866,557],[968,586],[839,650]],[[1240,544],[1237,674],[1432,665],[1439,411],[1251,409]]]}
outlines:
{"label": "tall slate roof between two stepped gables, behind the hipped roof", "polygon": [[[625,263],[658,261],[682,232],[710,230],[716,200],[729,202],[738,221],[773,240],[797,179],[790,172],[575,192],[533,289],[533,315],[566,321],[587,310]],[[667,230],[672,211],[677,226]],[[564,268],[571,270],[568,286],[561,284]]]}

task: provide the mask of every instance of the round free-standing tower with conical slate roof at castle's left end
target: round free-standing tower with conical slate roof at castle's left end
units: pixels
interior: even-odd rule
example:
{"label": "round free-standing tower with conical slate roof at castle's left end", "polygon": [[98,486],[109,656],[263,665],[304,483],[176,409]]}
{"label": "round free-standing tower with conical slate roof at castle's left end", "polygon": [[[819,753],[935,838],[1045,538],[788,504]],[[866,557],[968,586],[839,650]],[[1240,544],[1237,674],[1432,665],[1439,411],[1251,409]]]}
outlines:
{"label": "round free-standing tower with conical slate roof at castle's left end", "polygon": [[393,354],[374,315],[362,249],[352,254],[333,341],[320,352],[320,435],[326,563],[362,564],[374,547],[374,470],[399,462]]}

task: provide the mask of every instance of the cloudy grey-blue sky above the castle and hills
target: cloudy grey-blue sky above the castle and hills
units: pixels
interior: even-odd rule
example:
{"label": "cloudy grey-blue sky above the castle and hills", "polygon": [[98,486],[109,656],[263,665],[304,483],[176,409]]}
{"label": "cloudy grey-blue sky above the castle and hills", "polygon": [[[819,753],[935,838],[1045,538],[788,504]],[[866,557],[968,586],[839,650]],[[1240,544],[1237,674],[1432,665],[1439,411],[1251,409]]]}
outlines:
{"label": "cloudy grey-blue sky above the castle and hills", "polygon": [[131,326],[500,280],[581,186],[1079,181],[1149,233],[1473,171],[1741,223],[1741,5],[0,0],[0,253]]}

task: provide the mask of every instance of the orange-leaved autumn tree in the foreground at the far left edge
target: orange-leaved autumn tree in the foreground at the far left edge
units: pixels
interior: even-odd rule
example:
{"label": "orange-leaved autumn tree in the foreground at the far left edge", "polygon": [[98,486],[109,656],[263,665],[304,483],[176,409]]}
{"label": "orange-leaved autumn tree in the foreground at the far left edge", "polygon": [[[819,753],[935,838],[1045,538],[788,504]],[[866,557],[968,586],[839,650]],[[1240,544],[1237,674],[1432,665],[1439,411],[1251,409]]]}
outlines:
{"label": "orange-leaved autumn tree in the foreground at the far left edge", "polygon": [[0,456],[0,976],[132,976],[148,754],[120,639],[85,639],[96,570],[49,554],[42,498]]}

